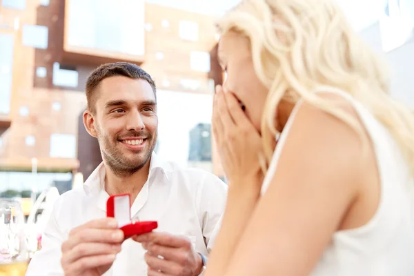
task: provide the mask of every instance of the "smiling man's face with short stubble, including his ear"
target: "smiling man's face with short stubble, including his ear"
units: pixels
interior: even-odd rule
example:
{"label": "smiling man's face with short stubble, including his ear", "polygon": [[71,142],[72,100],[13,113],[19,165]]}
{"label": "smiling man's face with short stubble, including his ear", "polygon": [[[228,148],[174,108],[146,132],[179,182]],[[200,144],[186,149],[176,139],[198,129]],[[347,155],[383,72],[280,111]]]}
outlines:
{"label": "smiling man's face with short stubble, including his ear", "polygon": [[155,94],[147,81],[123,76],[103,79],[96,92],[96,114],[86,115],[95,132],[89,132],[115,173],[132,174],[150,159],[157,142]]}

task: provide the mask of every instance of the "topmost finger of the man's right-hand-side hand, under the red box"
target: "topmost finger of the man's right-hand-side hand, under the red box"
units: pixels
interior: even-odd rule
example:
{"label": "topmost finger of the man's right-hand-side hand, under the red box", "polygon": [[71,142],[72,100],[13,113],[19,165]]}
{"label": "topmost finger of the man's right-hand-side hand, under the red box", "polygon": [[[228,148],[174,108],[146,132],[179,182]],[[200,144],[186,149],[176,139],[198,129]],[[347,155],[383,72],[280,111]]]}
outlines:
{"label": "topmost finger of the man's right-hand-side hand, under the red box", "polygon": [[135,242],[159,244],[172,248],[188,248],[191,242],[187,237],[172,235],[163,232],[151,232],[132,237]]}

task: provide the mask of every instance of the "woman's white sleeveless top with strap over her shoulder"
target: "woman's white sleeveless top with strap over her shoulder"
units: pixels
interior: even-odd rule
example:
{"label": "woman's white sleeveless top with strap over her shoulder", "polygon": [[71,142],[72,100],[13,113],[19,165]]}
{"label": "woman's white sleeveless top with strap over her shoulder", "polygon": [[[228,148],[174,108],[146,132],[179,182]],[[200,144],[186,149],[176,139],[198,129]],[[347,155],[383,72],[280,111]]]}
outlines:
{"label": "woman's white sleeveless top with strap over her shoulder", "polygon": [[[353,104],[373,141],[381,181],[380,204],[366,225],[334,233],[311,276],[413,276],[414,181],[401,150],[388,130],[351,95],[335,92]],[[262,185],[266,193],[300,103],[279,137]]]}

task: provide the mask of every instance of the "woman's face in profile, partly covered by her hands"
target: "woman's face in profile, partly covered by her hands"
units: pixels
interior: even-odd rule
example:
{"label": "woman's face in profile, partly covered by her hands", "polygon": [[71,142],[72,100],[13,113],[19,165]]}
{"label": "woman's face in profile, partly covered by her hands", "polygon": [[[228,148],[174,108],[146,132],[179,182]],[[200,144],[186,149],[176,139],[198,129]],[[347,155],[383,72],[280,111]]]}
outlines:
{"label": "woman's face in profile, partly covered by her hands", "polygon": [[226,32],[219,41],[219,61],[226,70],[223,88],[233,92],[245,106],[247,117],[260,131],[268,89],[253,68],[250,42],[237,32]]}

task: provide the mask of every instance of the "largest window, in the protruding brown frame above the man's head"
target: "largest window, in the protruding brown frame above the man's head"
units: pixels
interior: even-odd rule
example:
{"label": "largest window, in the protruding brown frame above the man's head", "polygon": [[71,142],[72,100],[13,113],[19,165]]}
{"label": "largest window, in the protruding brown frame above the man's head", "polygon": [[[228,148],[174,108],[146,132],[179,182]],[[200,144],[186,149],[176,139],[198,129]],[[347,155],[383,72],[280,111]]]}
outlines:
{"label": "largest window, in the protruding brown frame above the man's head", "polygon": [[[144,55],[144,1],[70,0],[68,44]],[[132,26],[134,35],[131,35]]]}

